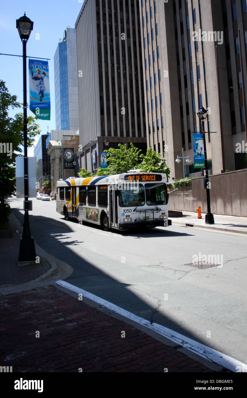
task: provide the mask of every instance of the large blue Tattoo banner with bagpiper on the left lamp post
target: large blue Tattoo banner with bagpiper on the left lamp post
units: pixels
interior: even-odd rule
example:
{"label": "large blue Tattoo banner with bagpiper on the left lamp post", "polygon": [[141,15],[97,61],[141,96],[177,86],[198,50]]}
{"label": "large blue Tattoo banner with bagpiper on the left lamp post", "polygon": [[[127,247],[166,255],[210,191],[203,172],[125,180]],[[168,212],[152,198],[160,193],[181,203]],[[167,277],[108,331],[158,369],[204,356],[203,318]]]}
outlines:
{"label": "large blue Tattoo banner with bagpiper on the left lamp post", "polygon": [[51,101],[48,61],[29,59],[29,109],[42,120],[50,120]]}

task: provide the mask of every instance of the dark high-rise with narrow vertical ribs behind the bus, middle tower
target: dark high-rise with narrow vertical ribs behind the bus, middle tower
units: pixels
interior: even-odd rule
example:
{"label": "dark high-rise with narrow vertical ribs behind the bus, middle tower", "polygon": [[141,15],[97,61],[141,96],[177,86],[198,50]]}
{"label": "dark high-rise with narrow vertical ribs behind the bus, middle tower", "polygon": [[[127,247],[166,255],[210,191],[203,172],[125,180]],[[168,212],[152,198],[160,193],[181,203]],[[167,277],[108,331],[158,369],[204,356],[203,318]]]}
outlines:
{"label": "dark high-rise with narrow vertical ribs behind the bus, middle tower", "polygon": [[75,31],[81,166],[95,170],[106,139],[146,149],[139,2],[86,0]]}

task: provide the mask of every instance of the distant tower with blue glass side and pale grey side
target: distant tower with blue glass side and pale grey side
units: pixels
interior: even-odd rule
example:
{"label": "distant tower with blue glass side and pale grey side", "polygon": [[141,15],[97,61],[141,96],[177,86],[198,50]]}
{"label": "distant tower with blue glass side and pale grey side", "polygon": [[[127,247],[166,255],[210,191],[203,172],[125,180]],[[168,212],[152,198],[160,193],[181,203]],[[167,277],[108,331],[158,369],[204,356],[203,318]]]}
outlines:
{"label": "distant tower with blue glass side and pale grey side", "polygon": [[54,55],[57,130],[78,130],[75,29],[67,27]]}

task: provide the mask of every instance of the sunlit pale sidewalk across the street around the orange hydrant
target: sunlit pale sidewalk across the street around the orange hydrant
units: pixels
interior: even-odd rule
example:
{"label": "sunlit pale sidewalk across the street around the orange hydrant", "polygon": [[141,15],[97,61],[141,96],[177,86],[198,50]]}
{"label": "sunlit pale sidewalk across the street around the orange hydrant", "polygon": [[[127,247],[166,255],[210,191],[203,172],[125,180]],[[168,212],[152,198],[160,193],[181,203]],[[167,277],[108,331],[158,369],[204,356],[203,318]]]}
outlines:
{"label": "sunlit pale sidewalk across the street around the orange hydrant", "polygon": [[182,213],[183,217],[170,217],[172,219],[172,225],[207,228],[214,232],[247,234],[247,217],[214,214],[214,224],[205,224],[205,213],[201,214],[202,219],[197,218],[197,212],[182,211]]}

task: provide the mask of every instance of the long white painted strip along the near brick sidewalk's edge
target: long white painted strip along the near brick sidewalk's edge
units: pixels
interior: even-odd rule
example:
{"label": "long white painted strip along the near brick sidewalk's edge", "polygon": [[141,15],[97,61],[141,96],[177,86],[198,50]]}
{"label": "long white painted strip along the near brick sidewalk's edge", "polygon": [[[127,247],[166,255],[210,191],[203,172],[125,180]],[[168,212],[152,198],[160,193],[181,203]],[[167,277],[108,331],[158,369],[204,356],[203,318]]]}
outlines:
{"label": "long white painted strip along the near brick sidewalk's edge", "polygon": [[76,292],[76,293],[81,293],[82,296],[89,298],[90,300],[93,300],[97,302],[98,304],[101,304],[103,307],[108,308],[109,310],[112,310],[114,312],[117,312],[117,314],[121,314],[125,316],[126,318],[129,318],[140,325],[146,326],[147,328],[154,330],[155,332],[161,334],[162,336],[165,336],[169,340],[172,340],[178,344],[181,344],[182,347],[189,349],[192,352],[195,352],[196,354],[200,355],[203,358],[209,359],[209,361],[212,361],[214,363],[217,363],[218,365],[231,370],[232,372],[236,372],[239,367],[240,369],[246,369],[247,365],[244,363],[237,361],[236,359],[229,357],[228,355],[225,355],[219,351],[214,350],[213,348],[207,347],[207,345],[201,344],[195,340],[192,340],[180,333],[175,332],[174,330],[168,329],[165,326],[159,325],[159,324],[151,324],[148,320],[144,318],[140,318],[140,316],[137,316],[135,314],[132,314],[131,312],[128,312],[124,310],[123,308],[109,302],[106,300],[103,300],[103,298],[100,298],[98,296],[93,295],[92,293],[88,293],[87,291],[80,289],[79,287],[76,287],[74,285],[71,285],[68,282],[65,281],[57,281],[56,282],[58,285],[66,287],[67,289]]}

